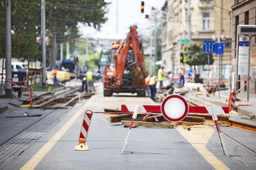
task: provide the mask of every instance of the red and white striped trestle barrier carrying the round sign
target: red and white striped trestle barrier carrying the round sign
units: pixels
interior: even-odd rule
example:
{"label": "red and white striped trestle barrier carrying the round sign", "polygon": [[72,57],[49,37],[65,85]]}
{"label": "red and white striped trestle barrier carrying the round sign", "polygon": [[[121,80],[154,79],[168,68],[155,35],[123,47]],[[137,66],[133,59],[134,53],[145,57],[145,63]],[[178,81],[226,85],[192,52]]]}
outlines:
{"label": "red and white striped trestle barrier carrying the round sign", "polygon": [[[221,136],[220,126],[218,126],[218,117],[217,113],[226,114],[229,113],[229,107],[189,107],[187,100],[184,99],[183,96],[180,95],[170,95],[164,98],[162,104],[159,105],[122,105],[122,111],[133,111],[133,121],[131,122],[129,131],[126,135],[125,142],[123,142],[123,147],[121,150],[121,154],[125,149],[127,144],[127,139],[129,137],[131,127],[133,126],[134,119],[137,117],[138,112],[161,112],[163,117],[168,121],[177,122],[183,120],[188,112],[191,113],[210,113],[212,118],[216,124],[216,129],[218,133],[218,137],[220,139],[220,144],[222,148],[222,152],[226,156],[229,157],[228,151],[226,150],[226,145]],[[225,151],[225,152],[224,152]]]}

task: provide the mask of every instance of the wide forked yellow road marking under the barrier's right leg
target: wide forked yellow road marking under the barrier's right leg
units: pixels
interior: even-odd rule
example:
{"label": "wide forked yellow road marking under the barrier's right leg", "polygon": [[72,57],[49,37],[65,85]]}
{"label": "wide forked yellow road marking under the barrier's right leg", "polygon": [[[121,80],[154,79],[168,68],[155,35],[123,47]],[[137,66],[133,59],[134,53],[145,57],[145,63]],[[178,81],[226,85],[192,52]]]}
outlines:
{"label": "wide forked yellow road marking under the barrier's right leg", "polygon": [[184,130],[181,127],[177,128],[177,130],[214,169],[229,169],[206,148],[206,145],[214,132],[213,128],[202,125],[191,128],[191,131]]}

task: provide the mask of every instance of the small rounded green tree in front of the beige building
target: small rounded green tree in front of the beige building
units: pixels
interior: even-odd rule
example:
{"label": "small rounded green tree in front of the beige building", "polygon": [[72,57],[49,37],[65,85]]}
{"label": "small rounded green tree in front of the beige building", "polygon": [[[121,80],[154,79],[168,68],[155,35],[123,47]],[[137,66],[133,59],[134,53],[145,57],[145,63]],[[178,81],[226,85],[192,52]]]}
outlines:
{"label": "small rounded green tree in front of the beige building", "polygon": [[[208,64],[208,54],[203,54],[202,44],[189,43],[184,45],[183,50],[184,62],[187,63],[187,65],[192,66]],[[209,54],[209,58],[210,65],[212,65],[214,62],[212,54]]]}

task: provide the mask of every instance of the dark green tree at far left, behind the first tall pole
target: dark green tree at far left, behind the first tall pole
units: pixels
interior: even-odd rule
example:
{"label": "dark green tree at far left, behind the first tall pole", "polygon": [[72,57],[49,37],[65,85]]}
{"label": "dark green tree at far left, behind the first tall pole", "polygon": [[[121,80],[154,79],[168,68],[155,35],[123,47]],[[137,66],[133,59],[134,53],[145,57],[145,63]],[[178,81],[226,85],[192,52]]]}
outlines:
{"label": "dark green tree at far left, behind the first tall pole", "polygon": [[[23,7],[24,3],[27,5],[27,2],[11,1],[11,55],[23,61],[24,59],[34,61],[40,54],[38,43],[36,43],[35,28],[35,18],[39,16],[36,15],[35,5]],[[0,58],[5,58],[5,27],[5,1],[0,0]]]}

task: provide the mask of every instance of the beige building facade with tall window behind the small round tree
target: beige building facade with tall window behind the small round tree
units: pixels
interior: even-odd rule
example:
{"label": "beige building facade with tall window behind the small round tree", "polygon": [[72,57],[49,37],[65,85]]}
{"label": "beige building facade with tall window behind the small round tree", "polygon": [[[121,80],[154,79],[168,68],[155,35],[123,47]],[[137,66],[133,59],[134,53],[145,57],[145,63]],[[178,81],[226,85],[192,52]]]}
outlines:
{"label": "beige building facade with tall window behind the small round tree", "polygon": [[[163,40],[162,61],[166,68],[177,74],[177,70],[183,65],[180,63],[180,53],[185,44],[179,44],[181,39],[190,39],[203,45],[203,41],[224,42],[224,54],[220,55],[221,80],[231,79],[231,38],[232,38],[232,0],[190,0],[190,22],[188,28],[188,5],[187,0],[169,0],[162,7],[163,11],[174,15],[176,18],[163,15]],[[184,27],[183,27],[184,25]],[[184,32],[184,37],[183,37]],[[209,78],[218,80],[218,55],[213,54],[214,63],[209,67]],[[185,70],[191,69],[184,64]],[[208,66],[200,66],[199,74],[208,79]]]}

